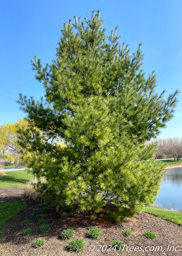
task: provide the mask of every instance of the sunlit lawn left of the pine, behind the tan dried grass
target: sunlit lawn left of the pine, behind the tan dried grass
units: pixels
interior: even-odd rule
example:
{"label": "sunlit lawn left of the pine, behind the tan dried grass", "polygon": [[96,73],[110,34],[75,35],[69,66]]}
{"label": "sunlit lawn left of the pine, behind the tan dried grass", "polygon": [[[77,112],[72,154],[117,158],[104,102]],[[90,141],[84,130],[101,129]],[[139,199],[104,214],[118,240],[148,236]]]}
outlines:
{"label": "sunlit lawn left of the pine, behind the tan dried grass", "polygon": [[34,178],[33,174],[27,173],[27,170],[8,171],[5,174],[0,178],[0,188],[24,187],[26,181]]}

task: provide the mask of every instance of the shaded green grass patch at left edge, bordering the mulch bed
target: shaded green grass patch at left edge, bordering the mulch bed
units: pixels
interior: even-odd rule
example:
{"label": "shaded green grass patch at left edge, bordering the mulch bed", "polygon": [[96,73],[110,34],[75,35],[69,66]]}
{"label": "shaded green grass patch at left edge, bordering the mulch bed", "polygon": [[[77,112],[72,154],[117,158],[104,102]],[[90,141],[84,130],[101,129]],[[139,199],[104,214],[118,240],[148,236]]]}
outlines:
{"label": "shaded green grass patch at left edge, bordering the mulch bed", "polygon": [[26,208],[24,203],[7,203],[0,202],[0,237],[2,234],[3,224],[12,218],[19,212],[23,211]]}

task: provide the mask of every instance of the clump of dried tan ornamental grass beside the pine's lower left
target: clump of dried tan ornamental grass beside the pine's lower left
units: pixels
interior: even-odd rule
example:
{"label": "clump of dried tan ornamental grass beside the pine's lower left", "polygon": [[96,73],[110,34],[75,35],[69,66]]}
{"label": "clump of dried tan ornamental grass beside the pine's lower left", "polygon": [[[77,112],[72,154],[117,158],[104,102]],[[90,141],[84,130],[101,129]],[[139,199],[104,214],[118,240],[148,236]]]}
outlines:
{"label": "clump of dried tan ornamental grass beside the pine's lower left", "polygon": [[35,185],[37,184],[37,180],[27,181],[25,183],[23,198],[25,199],[40,199],[40,193],[36,191]]}

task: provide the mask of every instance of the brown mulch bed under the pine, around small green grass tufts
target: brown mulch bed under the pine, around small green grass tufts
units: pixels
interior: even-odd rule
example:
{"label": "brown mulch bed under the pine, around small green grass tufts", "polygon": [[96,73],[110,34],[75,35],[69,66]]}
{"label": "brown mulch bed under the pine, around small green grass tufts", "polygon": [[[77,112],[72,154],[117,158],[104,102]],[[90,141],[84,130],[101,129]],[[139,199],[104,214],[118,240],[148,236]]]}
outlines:
{"label": "brown mulch bed under the pine, around small green grass tufts", "polygon": [[[40,234],[40,226],[37,224],[36,215],[40,214],[41,209],[45,206],[40,207],[40,202],[33,200],[23,200],[21,193],[23,193],[23,188],[20,187],[0,188],[0,202],[23,202],[27,204],[27,209],[5,223],[0,238],[0,244],[3,244],[0,246],[0,255],[182,255],[182,226],[144,212],[135,215],[133,219],[127,218],[126,222],[117,224],[103,220],[100,217],[93,220],[90,218],[89,214],[80,214],[79,216],[71,218],[60,218],[55,208],[50,208],[44,213],[44,219],[46,219],[46,224],[51,226],[51,229],[47,234]],[[6,194],[8,197],[5,198],[5,196],[1,196],[2,194]],[[35,208],[38,208],[38,210],[33,212]],[[32,212],[34,215],[30,216]],[[25,219],[29,219],[29,223],[27,226],[21,227],[21,222]],[[90,227],[98,227],[100,229],[101,235],[97,240],[92,240],[86,236]],[[26,228],[32,228],[32,233],[28,236],[23,236],[23,231]],[[72,239],[79,237],[86,241],[85,248],[82,252],[76,253],[67,250],[66,246],[70,240],[64,241],[59,237],[59,233],[66,228],[75,229],[75,234]],[[129,237],[124,237],[122,233],[126,228],[132,230],[132,234]],[[157,238],[153,240],[146,238],[143,236],[144,231],[155,232]],[[32,242],[35,241],[36,238],[45,239],[45,244],[42,247],[33,248]],[[108,246],[113,240],[123,241],[128,247],[126,246],[124,250],[114,251]],[[91,245],[93,246],[89,247]],[[156,248],[156,246],[162,247]],[[169,246],[174,246],[174,248],[171,247],[171,249],[167,251]],[[94,249],[90,251],[89,248]],[[12,251],[10,251],[11,249]]]}

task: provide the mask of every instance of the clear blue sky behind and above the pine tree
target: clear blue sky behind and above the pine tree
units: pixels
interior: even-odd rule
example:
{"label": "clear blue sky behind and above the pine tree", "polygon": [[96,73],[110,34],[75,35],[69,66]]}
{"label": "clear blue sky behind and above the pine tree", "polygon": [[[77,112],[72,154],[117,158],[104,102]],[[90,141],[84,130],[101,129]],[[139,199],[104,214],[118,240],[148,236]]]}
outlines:
{"label": "clear blue sky behind and above the pine tree", "polygon": [[[118,26],[120,42],[134,52],[143,42],[143,70],[157,73],[157,91],[182,91],[182,1],[181,0],[1,0],[0,8],[0,125],[24,117],[16,103],[18,93],[39,99],[43,86],[35,80],[30,60],[37,55],[50,63],[61,36],[63,22],[74,15],[91,17],[101,10],[107,34]],[[182,137],[182,93],[175,117],[161,138]]]}

